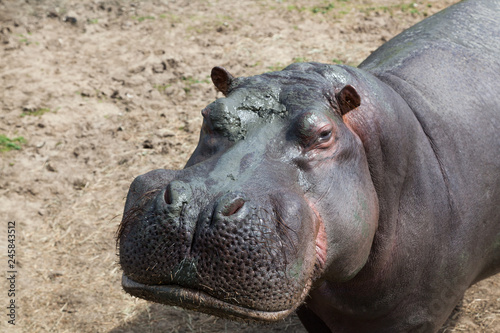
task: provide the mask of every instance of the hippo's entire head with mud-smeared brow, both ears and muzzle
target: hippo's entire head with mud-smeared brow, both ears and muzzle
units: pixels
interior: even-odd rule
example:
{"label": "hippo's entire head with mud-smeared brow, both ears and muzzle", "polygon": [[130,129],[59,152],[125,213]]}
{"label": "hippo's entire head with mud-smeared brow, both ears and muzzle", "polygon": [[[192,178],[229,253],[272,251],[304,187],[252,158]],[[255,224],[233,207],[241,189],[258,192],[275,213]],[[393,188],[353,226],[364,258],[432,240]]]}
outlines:
{"label": "hippo's entire head with mud-smeared brow, both ears and muzzle", "polygon": [[130,187],[118,232],[123,287],[228,318],[278,320],[370,254],[378,202],[363,144],[343,120],[362,103],[341,66],[234,78],[201,113],[183,170]]}

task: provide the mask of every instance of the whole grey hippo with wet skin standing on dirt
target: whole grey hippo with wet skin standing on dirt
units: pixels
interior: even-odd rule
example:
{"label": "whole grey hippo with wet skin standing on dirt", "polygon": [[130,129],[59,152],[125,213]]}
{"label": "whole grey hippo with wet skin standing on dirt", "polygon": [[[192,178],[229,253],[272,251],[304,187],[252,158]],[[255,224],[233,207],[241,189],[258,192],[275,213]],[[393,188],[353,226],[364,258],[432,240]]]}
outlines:
{"label": "whole grey hippo with wet skin standing on dirt", "polygon": [[185,169],[131,185],[132,295],[310,332],[434,332],[500,269],[500,2],[452,6],[359,68],[233,78]]}

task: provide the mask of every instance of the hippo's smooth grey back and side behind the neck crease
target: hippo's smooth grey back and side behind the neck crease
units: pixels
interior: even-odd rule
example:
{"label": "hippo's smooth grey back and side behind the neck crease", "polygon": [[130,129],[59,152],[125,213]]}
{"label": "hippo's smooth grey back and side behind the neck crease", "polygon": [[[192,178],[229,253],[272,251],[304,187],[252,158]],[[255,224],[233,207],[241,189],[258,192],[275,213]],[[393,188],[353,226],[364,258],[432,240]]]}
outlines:
{"label": "hippo's smooth grey back and side behind the neck crease", "polygon": [[[476,258],[477,242],[500,244],[498,54],[500,1],[469,0],[406,30],[359,66],[403,96],[422,126],[447,186],[452,229],[489,228],[470,239]],[[499,252],[490,249],[480,278],[497,271],[489,267],[498,267]]]}

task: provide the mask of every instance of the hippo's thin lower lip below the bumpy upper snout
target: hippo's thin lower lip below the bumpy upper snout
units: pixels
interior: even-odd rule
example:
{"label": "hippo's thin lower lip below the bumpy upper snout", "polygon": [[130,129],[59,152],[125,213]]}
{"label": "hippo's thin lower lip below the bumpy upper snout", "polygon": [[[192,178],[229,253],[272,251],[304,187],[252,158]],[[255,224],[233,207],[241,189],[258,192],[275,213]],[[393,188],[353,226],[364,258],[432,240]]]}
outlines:
{"label": "hippo's thin lower lip below the bumpy upper snout", "polygon": [[[295,311],[296,307],[279,311],[262,311],[231,304],[207,293],[181,287],[179,285],[146,285],[135,282],[125,274],[122,276],[122,286],[132,296],[165,305],[182,306],[183,308],[201,311],[207,314],[224,316],[234,320],[255,320],[273,322],[284,319]],[[304,288],[304,298],[309,288]],[[297,303],[297,306],[301,302]]]}

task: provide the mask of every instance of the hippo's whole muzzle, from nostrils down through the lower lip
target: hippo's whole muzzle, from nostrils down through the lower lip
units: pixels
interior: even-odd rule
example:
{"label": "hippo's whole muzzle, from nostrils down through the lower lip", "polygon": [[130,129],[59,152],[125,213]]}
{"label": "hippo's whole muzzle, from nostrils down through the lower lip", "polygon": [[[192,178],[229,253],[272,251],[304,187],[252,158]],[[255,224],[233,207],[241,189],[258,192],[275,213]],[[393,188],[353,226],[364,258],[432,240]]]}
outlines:
{"label": "hippo's whole muzzle, from nostrils down through the lower lip", "polygon": [[222,318],[272,322],[293,313],[326,254],[308,200],[295,191],[264,203],[235,191],[190,200],[192,192],[205,193],[173,180],[139,210],[129,204],[118,235],[123,289]]}

